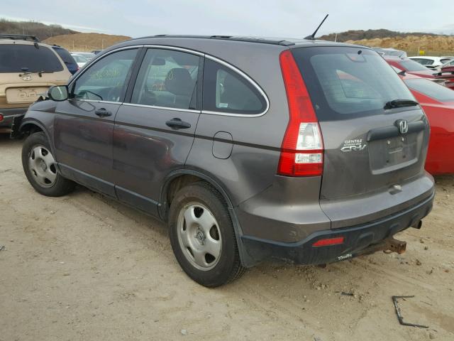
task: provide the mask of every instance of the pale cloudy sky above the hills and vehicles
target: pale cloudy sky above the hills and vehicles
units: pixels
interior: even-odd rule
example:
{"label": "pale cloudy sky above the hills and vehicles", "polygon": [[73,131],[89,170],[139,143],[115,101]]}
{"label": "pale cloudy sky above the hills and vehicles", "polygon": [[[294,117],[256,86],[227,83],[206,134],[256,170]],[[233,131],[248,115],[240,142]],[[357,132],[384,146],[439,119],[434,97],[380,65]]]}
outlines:
{"label": "pale cloudy sky above the hills and vehicles", "polygon": [[[452,0],[450,0],[452,1]],[[299,38],[387,28],[454,34],[449,1],[431,0],[0,0],[0,18],[57,23],[75,31],[131,36],[240,35]],[[445,10],[443,10],[445,9]],[[446,10],[447,9],[447,10]]]}

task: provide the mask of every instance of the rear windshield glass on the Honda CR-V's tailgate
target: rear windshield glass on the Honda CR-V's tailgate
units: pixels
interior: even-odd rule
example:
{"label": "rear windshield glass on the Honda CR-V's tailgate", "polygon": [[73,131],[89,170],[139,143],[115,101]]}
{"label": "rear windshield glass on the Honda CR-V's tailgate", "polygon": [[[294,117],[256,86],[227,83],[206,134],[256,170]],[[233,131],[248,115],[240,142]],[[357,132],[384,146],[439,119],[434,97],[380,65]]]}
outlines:
{"label": "rear windshield glass on the Honda CR-V's tailgate", "polygon": [[321,121],[382,114],[384,104],[413,95],[373,50],[296,48],[292,50]]}

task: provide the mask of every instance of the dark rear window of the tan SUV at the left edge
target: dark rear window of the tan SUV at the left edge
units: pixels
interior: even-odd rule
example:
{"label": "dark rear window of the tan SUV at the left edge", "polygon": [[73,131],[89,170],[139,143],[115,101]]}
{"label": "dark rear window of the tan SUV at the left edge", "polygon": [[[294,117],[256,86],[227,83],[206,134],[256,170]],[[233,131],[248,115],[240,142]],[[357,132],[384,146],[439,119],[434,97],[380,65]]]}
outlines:
{"label": "dark rear window of the tan SUV at the left edge", "polygon": [[0,45],[0,72],[57,72],[63,65],[55,53],[42,45]]}

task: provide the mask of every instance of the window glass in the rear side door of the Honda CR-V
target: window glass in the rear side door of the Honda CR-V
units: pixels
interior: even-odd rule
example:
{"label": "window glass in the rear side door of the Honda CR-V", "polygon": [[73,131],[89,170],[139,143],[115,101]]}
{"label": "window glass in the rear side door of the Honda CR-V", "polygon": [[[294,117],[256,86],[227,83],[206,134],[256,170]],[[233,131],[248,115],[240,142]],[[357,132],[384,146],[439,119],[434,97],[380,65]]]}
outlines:
{"label": "window glass in the rear side door of the Honda CR-V", "polygon": [[199,56],[150,49],[145,54],[131,103],[195,109]]}

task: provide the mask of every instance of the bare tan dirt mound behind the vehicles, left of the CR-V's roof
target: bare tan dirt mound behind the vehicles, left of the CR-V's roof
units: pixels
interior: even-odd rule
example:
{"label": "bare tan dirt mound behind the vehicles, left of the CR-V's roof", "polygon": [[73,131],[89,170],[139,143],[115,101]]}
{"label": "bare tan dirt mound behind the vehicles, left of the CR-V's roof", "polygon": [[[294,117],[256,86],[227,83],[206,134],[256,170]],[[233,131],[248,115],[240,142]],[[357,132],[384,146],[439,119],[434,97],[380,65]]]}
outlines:
{"label": "bare tan dirt mound behind the vehicles, left of the CR-V's roof", "polygon": [[44,40],[43,43],[60,45],[70,51],[92,51],[102,50],[128,39],[131,37],[102,33],[73,33],[51,37]]}

